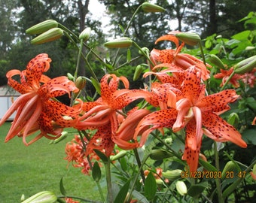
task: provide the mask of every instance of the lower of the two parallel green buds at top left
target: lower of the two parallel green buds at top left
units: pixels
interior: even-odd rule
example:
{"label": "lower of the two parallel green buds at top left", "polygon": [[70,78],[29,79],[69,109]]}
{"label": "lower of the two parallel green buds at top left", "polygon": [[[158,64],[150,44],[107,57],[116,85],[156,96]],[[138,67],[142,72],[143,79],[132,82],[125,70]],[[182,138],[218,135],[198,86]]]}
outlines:
{"label": "lower of the two parallel green buds at top left", "polygon": [[36,38],[33,38],[32,44],[43,44],[45,42],[54,41],[56,39],[61,38],[63,35],[63,30],[59,28],[53,28],[47,30],[47,32],[38,35]]}

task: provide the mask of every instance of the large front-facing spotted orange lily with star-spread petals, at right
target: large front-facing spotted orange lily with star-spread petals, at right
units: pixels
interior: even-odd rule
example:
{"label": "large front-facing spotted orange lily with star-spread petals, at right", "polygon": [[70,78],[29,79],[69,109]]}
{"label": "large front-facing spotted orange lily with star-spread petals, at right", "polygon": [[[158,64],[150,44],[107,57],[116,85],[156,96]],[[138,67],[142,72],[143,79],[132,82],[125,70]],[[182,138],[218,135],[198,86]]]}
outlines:
{"label": "large front-facing spotted orange lily with star-spread petals, at right", "polygon": [[228,104],[236,101],[239,95],[233,89],[205,95],[206,88],[200,83],[200,78],[200,72],[194,66],[188,68],[180,89],[183,98],[177,100],[176,107],[148,114],[139,123],[135,134],[136,138],[142,128],[152,125],[151,129],[142,133],[143,145],[154,129],[169,127],[173,132],[178,132],[185,128],[186,140],[182,159],[187,161],[190,171],[197,170],[203,133],[215,141],[231,141],[239,147],[247,147],[242,135],[218,116],[229,110]]}

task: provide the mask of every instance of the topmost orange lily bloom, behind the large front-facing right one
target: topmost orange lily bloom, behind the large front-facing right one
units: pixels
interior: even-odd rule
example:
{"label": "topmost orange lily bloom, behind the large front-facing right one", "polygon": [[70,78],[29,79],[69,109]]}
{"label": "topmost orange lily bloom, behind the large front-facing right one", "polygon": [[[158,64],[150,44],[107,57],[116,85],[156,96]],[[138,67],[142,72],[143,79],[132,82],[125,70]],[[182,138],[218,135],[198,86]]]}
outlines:
{"label": "topmost orange lily bloom, behind the large front-facing right one", "polygon": [[[163,35],[160,38],[155,41],[155,44],[157,44],[159,41],[172,41],[176,49],[171,50],[157,50],[153,49],[151,51],[151,60],[154,62],[155,65],[159,63],[163,63],[166,66],[166,64],[174,64],[178,66],[179,68],[183,68],[184,70],[189,68],[191,65],[195,65],[198,71],[202,72],[202,79],[207,80],[209,78],[209,70],[207,70],[206,66],[208,68],[211,67],[211,65],[204,64],[203,61],[200,59],[197,59],[194,56],[191,56],[187,53],[180,53],[182,47],[184,47],[184,42],[179,44],[178,38],[175,37],[175,34],[178,32],[169,32],[169,35]],[[166,66],[168,67],[168,66]]]}

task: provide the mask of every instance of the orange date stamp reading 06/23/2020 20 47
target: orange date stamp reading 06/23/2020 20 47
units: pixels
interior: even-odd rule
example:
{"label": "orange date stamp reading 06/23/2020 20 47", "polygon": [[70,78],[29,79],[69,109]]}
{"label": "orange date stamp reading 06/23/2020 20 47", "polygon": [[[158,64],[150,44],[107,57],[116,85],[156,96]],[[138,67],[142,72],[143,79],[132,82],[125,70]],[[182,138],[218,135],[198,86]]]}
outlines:
{"label": "orange date stamp reading 06/23/2020 20 47", "polygon": [[236,178],[236,177],[245,177],[245,171],[226,171],[225,174],[222,174],[221,171],[181,171],[182,178]]}

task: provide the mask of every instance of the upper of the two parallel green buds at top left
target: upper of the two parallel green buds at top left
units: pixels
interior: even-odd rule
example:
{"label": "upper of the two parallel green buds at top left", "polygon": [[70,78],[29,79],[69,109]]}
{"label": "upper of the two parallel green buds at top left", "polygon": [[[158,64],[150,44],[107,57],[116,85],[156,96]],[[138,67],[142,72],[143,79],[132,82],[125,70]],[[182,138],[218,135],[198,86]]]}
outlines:
{"label": "upper of the two parallel green buds at top left", "polygon": [[35,26],[26,29],[26,33],[29,35],[41,34],[56,27],[58,27],[56,20],[44,20],[44,22],[38,23]]}

